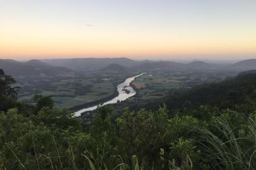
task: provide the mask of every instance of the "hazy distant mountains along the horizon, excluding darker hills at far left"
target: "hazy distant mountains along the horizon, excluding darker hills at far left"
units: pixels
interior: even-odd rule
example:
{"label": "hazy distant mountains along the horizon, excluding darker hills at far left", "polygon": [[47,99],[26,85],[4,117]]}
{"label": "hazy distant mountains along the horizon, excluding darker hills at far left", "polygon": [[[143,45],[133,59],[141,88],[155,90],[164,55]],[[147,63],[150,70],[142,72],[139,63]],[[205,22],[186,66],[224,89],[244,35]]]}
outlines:
{"label": "hazy distant mountains along the horizon, excluding darker hills at far left", "polygon": [[74,71],[95,71],[107,67],[110,64],[118,64],[130,69],[137,70],[177,70],[177,69],[194,69],[194,70],[219,70],[232,69],[238,71],[247,71],[256,69],[256,59],[242,60],[235,64],[211,64],[202,61],[194,61],[189,64],[182,64],[172,61],[150,61],[150,60],[132,60],[127,58],[81,58],[81,59],[45,59],[42,60],[47,64],[54,66],[67,67]]}

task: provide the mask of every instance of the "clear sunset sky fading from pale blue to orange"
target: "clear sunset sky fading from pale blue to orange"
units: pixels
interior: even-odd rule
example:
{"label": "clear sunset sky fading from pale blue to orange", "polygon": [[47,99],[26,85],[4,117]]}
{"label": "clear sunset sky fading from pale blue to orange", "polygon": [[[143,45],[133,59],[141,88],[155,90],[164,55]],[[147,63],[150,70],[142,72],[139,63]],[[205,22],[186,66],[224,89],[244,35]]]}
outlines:
{"label": "clear sunset sky fading from pale blue to orange", "polygon": [[252,0],[0,0],[0,59],[256,58]]}

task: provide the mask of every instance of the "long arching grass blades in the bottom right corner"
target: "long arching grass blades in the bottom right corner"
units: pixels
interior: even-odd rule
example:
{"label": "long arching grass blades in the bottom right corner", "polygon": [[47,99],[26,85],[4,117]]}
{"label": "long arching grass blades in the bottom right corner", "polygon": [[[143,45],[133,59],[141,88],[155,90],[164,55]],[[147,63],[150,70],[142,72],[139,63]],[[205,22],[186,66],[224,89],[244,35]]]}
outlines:
{"label": "long arching grass blades in the bottom right corner", "polygon": [[[214,118],[212,130],[195,127],[199,133],[199,146],[213,169],[256,169],[256,123],[249,118],[248,123],[231,128],[223,117]],[[239,130],[248,130],[244,137]]]}

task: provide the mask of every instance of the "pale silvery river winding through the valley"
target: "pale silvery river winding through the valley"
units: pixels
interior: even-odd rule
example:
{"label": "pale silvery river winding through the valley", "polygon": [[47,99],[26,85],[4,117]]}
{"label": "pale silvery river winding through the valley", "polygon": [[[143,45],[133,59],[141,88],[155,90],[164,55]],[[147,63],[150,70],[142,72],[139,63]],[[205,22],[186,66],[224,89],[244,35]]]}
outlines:
{"label": "pale silvery river winding through the valley", "polygon": [[[136,91],[130,86],[130,84],[132,81],[134,81],[134,79],[136,79],[136,77],[142,76],[143,74],[146,74],[146,73],[142,73],[137,76],[129,77],[129,78],[125,79],[124,82],[117,85],[117,91],[118,91],[119,95],[117,97],[110,99],[109,101],[103,103],[102,106],[117,103],[118,101],[124,101],[125,99],[131,98],[132,96],[134,96],[136,94]],[[74,116],[81,116],[81,113],[84,113],[85,111],[96,110],[97,107],[98,107],[98,105],[95,105],[95,106],[91,106],[89,108],[84,108],[82,110],[78,110],[74,113]]]}

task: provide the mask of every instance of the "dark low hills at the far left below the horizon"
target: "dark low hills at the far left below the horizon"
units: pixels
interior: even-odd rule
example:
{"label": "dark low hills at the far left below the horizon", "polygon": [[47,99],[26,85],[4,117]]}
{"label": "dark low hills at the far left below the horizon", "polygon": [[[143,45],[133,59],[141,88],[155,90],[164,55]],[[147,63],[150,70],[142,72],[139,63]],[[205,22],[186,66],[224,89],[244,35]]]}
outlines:
{"label": "dark low hills at the far left below the horizon", "polygon": [[56,76],[61,73],[74,72],[66,67],[55,67],[40,60],[18,62],[0,59],[0,69],[11,76]]}

